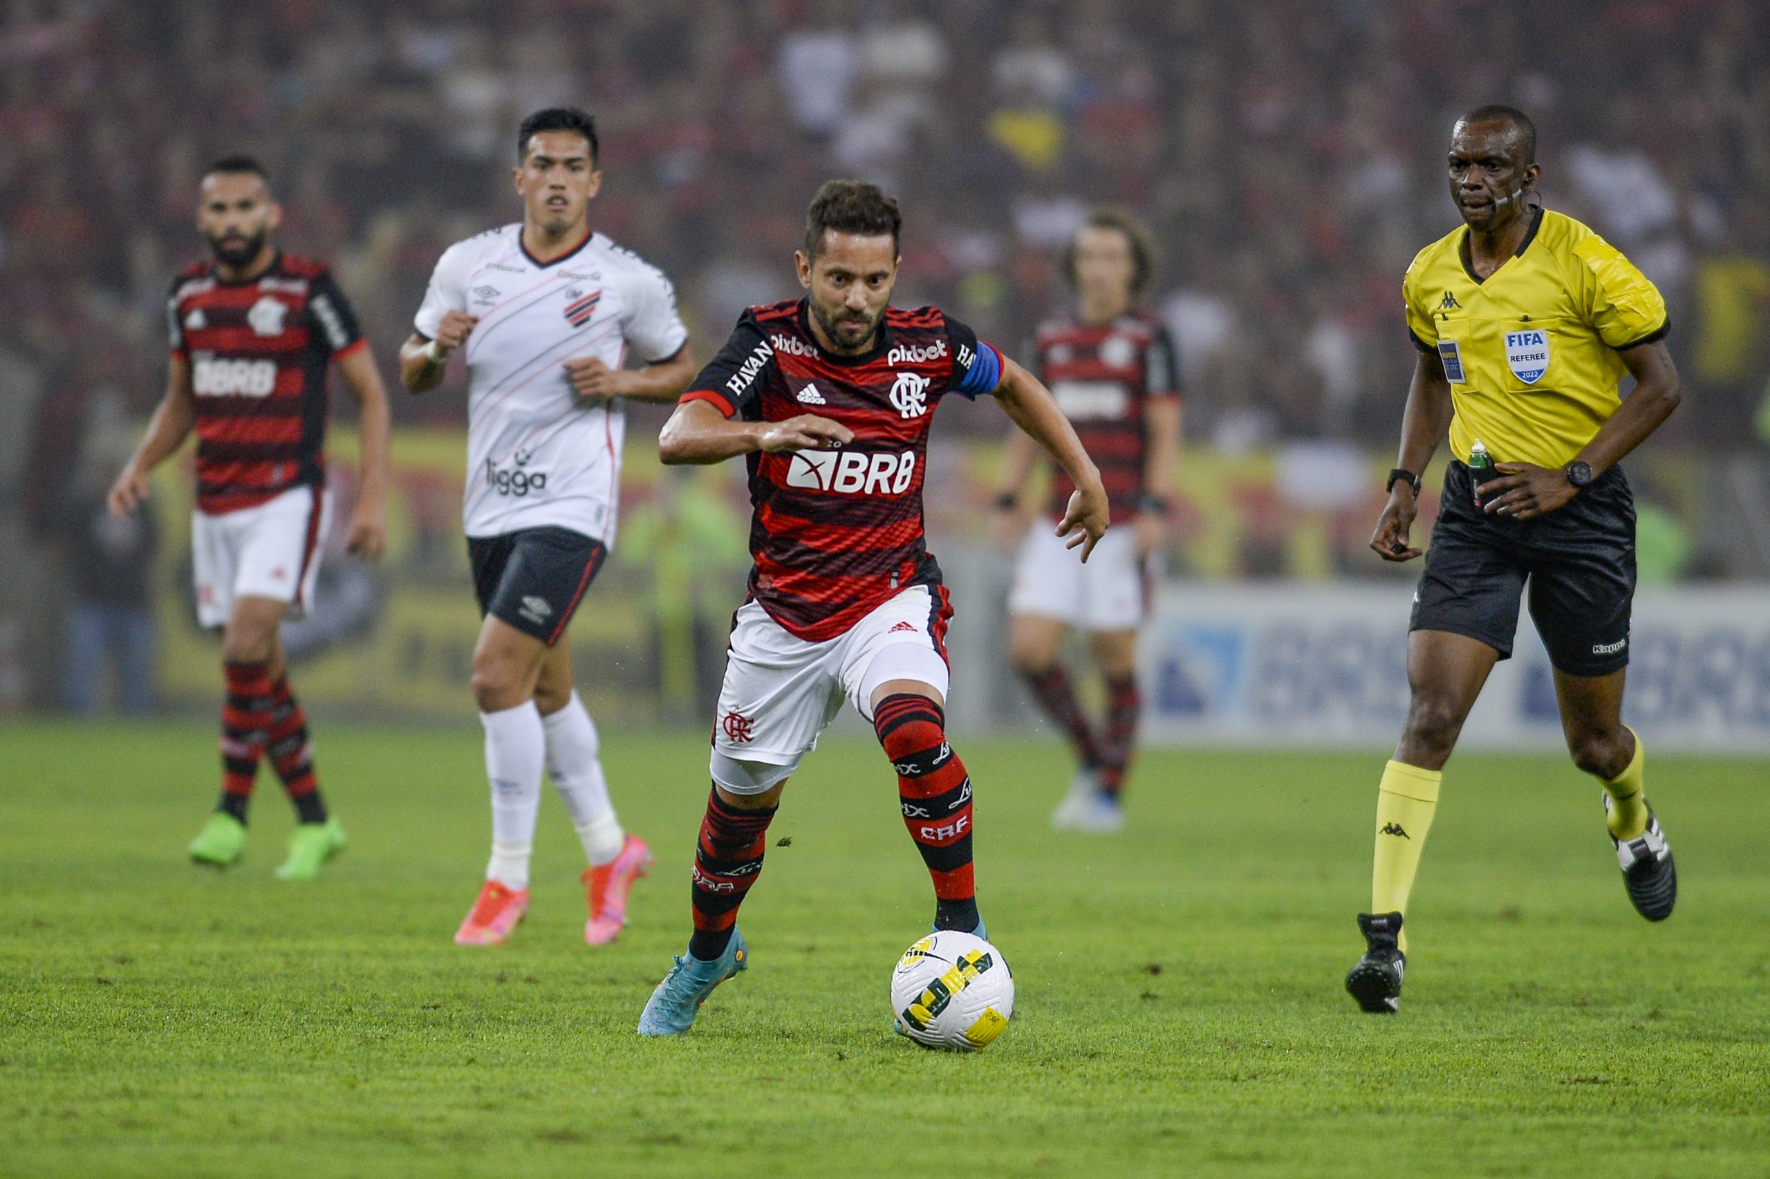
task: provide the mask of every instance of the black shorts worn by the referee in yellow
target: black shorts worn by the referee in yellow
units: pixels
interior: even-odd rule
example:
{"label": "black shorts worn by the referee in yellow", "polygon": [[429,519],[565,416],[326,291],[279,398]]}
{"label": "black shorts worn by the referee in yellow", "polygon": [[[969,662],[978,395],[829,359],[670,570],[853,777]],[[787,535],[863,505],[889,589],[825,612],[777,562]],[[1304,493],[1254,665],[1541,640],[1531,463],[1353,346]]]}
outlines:
{"label": "black shorts worn by the referee in yellow", "polygon": [[1627,667],[1635,499],[1623,469],[1531,520],[1487,515],[1473,496],[1469,467],[1451,462],[1407,628],[1462,634],[1510,659],[1529,582],[1531,620],[1558,671],[1607,676]]}

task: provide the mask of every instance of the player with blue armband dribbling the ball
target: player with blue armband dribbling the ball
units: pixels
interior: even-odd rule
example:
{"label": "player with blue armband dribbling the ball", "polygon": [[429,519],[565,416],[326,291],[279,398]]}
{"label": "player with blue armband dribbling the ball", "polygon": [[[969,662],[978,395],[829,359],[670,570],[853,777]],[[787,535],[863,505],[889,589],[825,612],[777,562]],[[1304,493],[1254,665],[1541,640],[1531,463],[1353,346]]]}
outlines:
{"label": "player with blue armband dribbling the ball", "polygon": [[972,883],[972,782],[945,733],[952,605],[922,533],[927,430],[947,393],[991,393],[1076,490],[1057,524],[1087,559],[1106,531],[1099,473],[1035,377],[938,308],[890,304],[897,202],[830,181],[795,255],[804,299],[756,306],[664,427],[664,462],[745,457],[756,517],[713,722],[694,859],[694,935],[639,1016],[678,1036],[749,967],[736,917],[768,823],[843,701],[878,733],[935,882],[935,928],[984,936]]}

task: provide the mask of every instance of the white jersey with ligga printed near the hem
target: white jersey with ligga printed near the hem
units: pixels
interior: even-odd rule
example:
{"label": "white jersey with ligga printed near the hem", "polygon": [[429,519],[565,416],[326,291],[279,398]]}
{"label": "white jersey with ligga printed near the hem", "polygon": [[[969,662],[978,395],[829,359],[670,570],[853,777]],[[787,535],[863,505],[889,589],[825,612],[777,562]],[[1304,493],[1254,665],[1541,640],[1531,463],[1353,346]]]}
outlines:
{"label": "white jersey with ligga printed near the hem", "polygon": [[632,347],[664,361],[689,340],[676,292],[639,255],[602,234],[552,262],[506,225],[455,243],[437,260],[414,320],[434,338],[446,312],[478,315],[467,361],[469,536],[570,528],[614,547],[621,485],[620,402],[586,405],[565,363],[598,356],[620,368]]}

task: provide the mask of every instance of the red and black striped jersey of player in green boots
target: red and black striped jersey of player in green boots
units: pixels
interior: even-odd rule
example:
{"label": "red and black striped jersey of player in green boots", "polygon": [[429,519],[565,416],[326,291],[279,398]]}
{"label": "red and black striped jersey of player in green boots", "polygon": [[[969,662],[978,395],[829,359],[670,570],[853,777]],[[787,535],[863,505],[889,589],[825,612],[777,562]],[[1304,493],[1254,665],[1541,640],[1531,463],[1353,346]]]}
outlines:
{"label": "red and black striped jersey of player in green boots", "polygon": [[365,343],[331,271],[280,253],[264,274],[225,281],[196,262],[172,283],[166,329],[191,365],[202,512],[326,483],[326,365]]}

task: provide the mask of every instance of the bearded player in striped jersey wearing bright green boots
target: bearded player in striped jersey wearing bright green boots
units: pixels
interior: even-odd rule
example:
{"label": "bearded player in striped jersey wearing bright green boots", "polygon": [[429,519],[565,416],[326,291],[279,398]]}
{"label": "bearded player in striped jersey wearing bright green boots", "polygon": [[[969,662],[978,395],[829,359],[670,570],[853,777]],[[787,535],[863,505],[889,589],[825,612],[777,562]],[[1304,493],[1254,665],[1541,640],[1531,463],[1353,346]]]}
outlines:
{"label": "bearded player in striped jersey wearing bright green boots", "polygon": [[320,798],[278,627],[308,609],[331,531],[326,368],[336,363],[361,414],[363,476],[347,549],[363,558],[386,542],[388,393],[331,271],[276,248],[281,216],[255,159],[230,156],[204,175],[196,228],[214,260],[172,283],[166,395],[112,485],[110,508],[135,512],[154,467],[196,430],[196,618],[223,628],[227,699],[221,804],[189,853],[216,867],[239,862],[246,804],[269,758],[301,818],[276,875],[312,880],[345,836]]}

